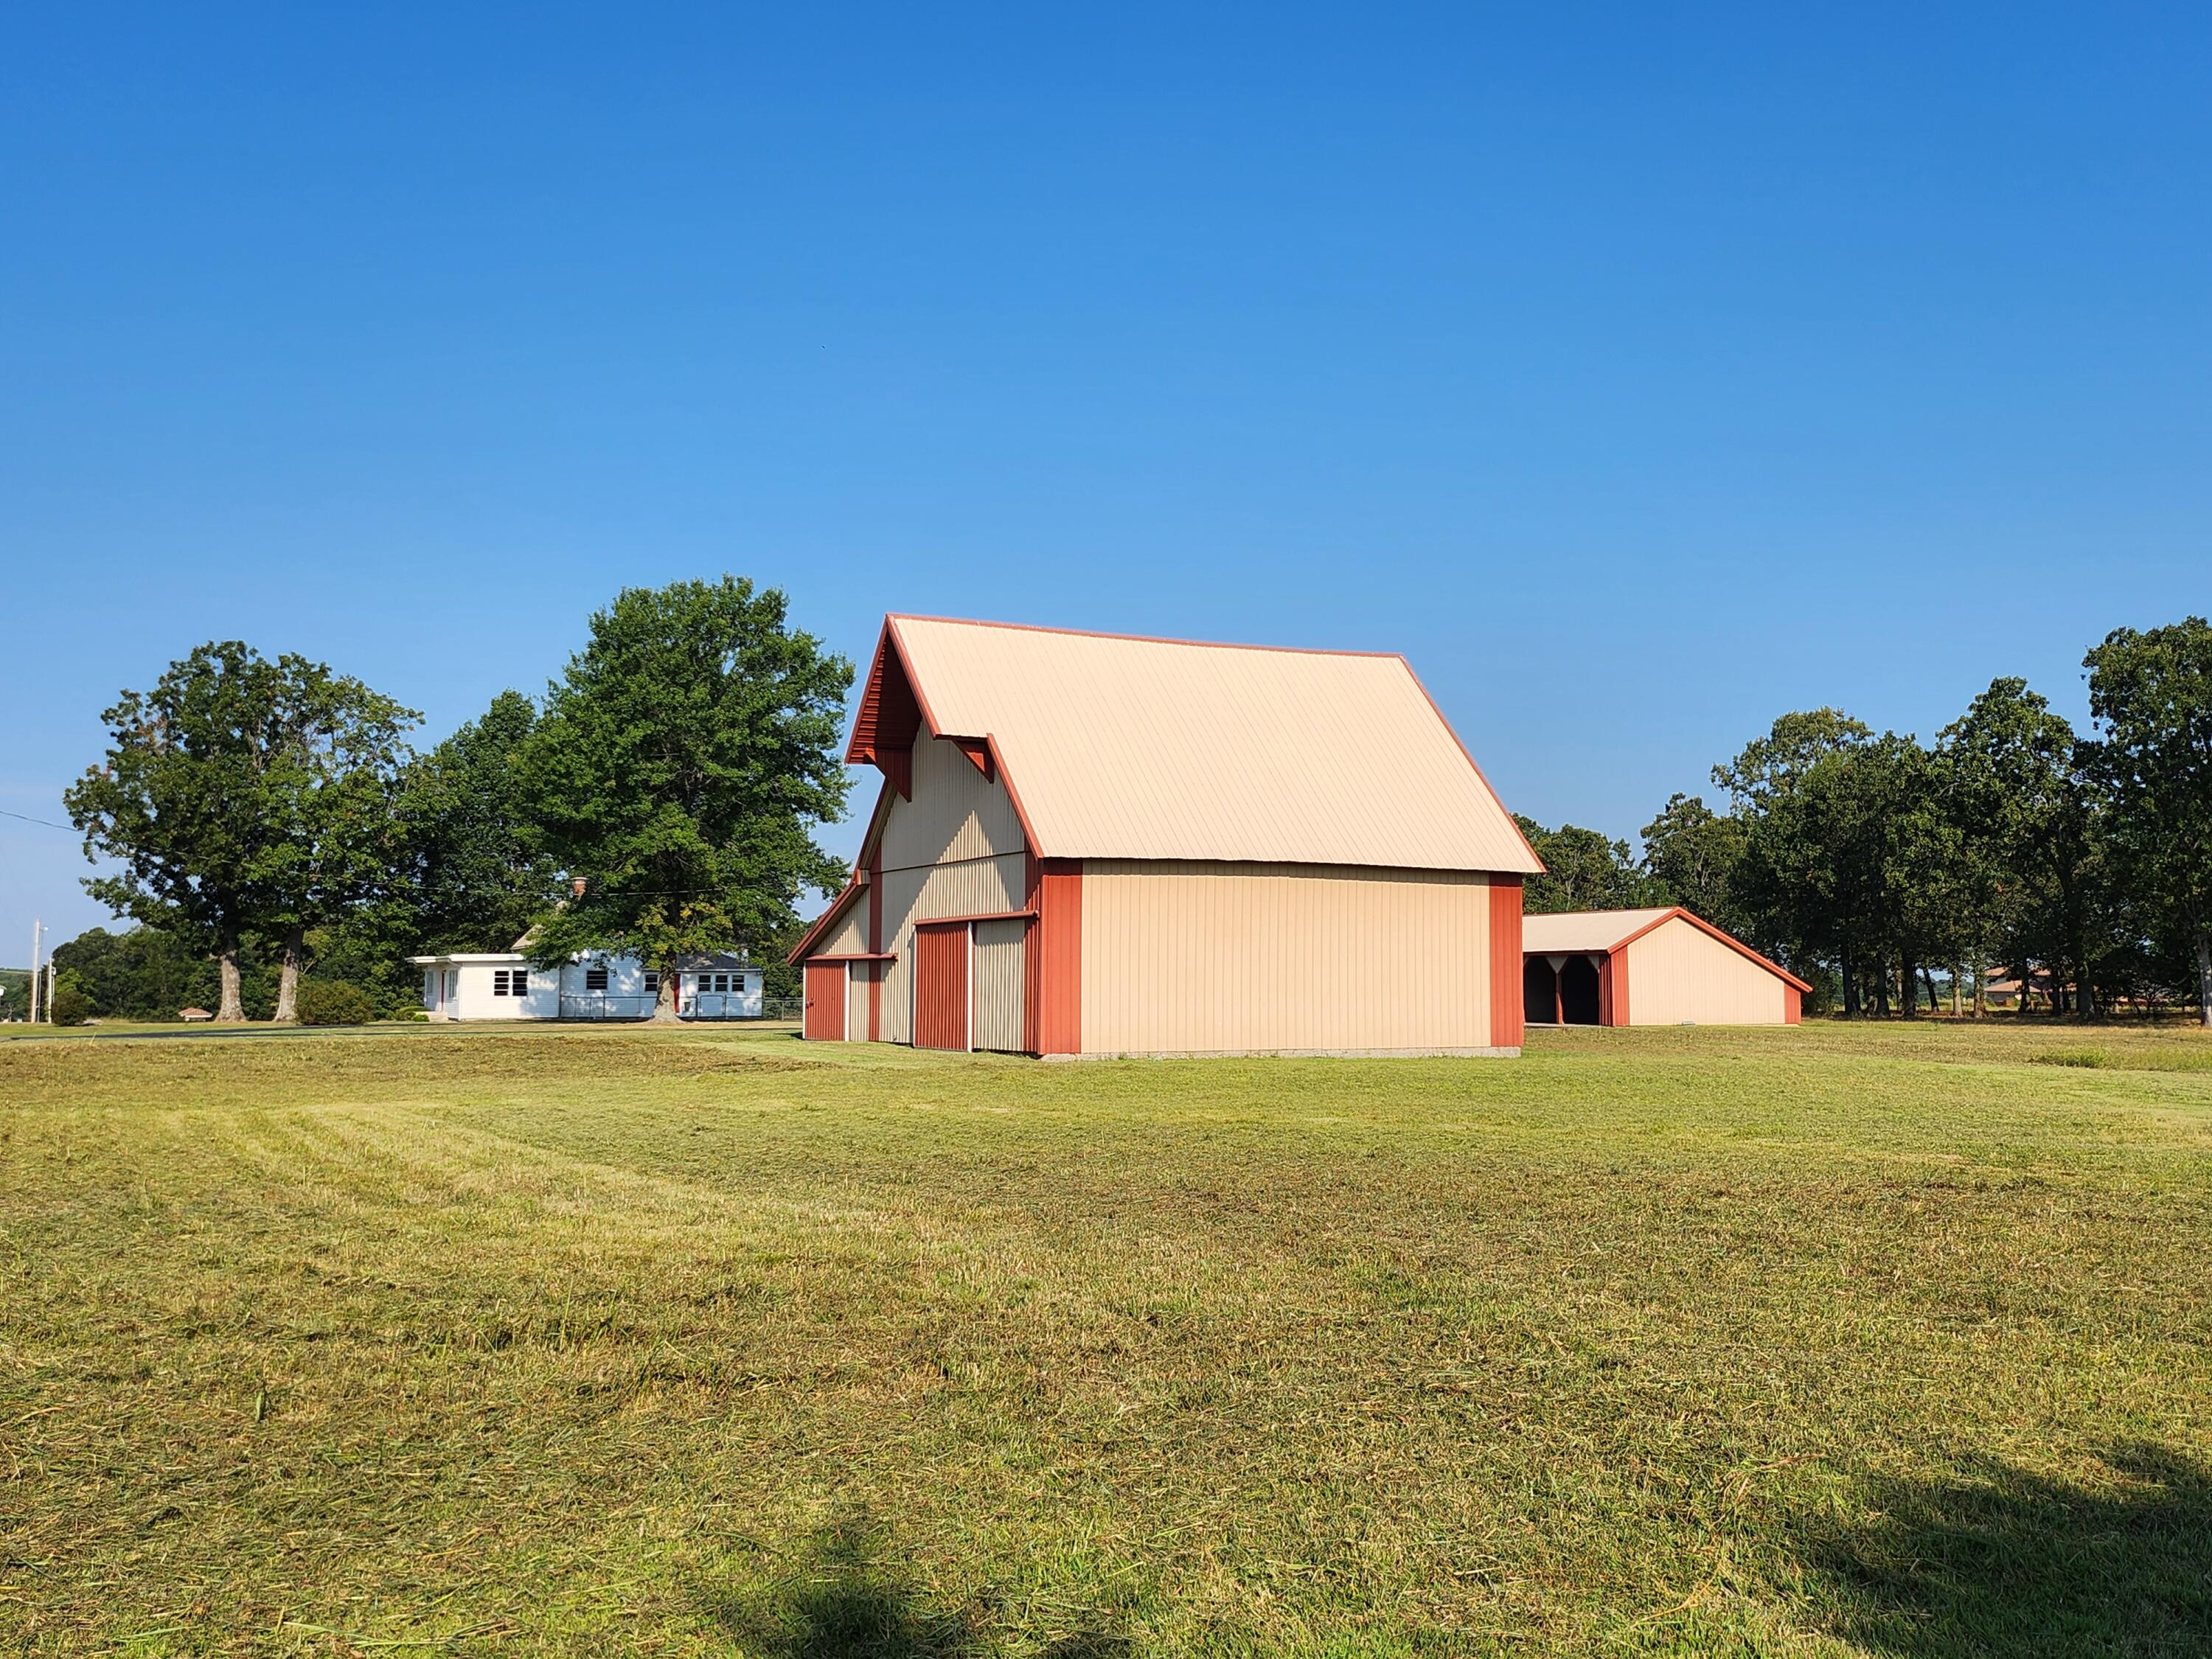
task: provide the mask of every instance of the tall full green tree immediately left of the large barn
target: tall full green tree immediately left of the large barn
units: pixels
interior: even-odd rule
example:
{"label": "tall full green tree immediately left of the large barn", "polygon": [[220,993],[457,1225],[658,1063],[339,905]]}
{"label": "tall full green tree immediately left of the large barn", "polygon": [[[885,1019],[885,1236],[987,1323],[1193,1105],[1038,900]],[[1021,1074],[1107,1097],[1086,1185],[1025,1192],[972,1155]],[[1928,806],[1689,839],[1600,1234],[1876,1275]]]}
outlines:
{"label": "tall full green tree immediately left of the large barn", "polygon": [[765,947],[799,896],[845,869],[812,830],[845,807],[838,734],[852,661],[741,577],[624,588],[546,692],[522,787],[577,883],[533,958],[635,951],[677,1018],[677,958]]}

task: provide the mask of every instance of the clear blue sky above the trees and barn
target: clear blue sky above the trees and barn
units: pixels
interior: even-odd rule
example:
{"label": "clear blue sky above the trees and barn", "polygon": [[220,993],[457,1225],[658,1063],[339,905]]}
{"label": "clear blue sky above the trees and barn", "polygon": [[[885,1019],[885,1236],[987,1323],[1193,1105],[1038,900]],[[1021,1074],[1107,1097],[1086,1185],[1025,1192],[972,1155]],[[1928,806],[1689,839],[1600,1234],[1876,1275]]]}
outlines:
{"label": "clear blue sky above the trees and barn", "polygon": [[[2174,4],[11,7],[0,810],[201,639],[427,741],[721,571],[1402,650],[1621,836],[1785,708],[2079,714],[2212,606],[2208,86]],[[0,818],[0,962],[84,869]]]}

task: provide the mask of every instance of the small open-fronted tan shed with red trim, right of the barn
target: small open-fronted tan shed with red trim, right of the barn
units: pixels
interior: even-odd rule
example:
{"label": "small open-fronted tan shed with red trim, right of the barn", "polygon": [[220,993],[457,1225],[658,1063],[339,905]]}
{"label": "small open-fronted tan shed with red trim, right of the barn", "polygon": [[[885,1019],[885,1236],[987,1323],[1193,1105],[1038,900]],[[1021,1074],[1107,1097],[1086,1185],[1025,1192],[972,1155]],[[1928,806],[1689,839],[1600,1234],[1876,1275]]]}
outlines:
{"label": "small open-fronted tan shed with red trim, right of the barn", "polygon": [[1794,1026],[1809,989],[1679,905],[1522,922],[1528,1024]]}

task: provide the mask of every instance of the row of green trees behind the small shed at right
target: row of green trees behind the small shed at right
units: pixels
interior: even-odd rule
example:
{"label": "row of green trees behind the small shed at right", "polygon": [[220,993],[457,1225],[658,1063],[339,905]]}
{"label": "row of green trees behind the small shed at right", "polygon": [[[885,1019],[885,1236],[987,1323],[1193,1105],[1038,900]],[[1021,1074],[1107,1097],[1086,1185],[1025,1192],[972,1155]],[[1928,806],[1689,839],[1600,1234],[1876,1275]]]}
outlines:
{"label": "row of green trees behind the small shed at right", "polygon": [[[1522,818],[1531,911],[1686,905],[1845,1015],[1984,1011],[1993,973],[2057,1013],[2194,1004],[2212,1024],[2212,626],[2117,628],[2086,657],[2090,732],[1995,679],[1933,743],[1816,708],[1626,841]],[[1969,989],[1971,987],[1971,989]]]}

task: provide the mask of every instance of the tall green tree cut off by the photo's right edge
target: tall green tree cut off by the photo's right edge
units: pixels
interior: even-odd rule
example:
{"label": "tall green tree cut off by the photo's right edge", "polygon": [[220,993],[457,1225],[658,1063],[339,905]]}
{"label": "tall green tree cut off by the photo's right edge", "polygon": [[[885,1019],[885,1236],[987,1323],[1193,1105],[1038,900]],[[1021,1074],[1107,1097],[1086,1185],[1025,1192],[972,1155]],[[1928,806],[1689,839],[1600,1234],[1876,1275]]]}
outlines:
{"label": "tall green tree cut off by the photo's right edge", "polygon": [[2212,1026],[2212,624],[2115,628],[2084,659],[2101,739],[2088,763],[2112,803],[2128,887],[2197,958]]}

